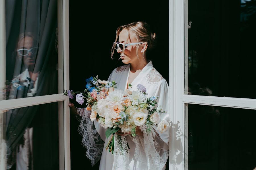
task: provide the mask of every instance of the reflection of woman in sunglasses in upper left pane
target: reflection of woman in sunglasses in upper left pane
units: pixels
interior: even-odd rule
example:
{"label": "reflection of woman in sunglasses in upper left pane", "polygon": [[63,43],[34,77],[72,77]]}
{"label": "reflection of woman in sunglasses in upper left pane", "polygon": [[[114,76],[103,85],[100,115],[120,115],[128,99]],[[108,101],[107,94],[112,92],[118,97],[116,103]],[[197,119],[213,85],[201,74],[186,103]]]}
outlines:
{"label": "reflection of woman in sunglasses in upper left pane", "polygon": [[[32,32],[20,34],[15,52],[15,71],[21,73],[11,81],[9,99],[35,96],[39,71],[34,71],[34,66],[38,47],[34,43]],[[17,74],[16,72],[14,74]]]}

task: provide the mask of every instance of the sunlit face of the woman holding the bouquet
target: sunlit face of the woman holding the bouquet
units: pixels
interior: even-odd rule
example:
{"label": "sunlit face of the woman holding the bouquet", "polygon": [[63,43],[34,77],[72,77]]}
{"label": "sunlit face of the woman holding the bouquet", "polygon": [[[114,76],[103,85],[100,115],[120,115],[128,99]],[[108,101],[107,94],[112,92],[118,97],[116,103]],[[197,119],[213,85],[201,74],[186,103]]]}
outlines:
{"label": "sunlit face of the woman holding the bouquet", "polygon": [[[124,43],[126,40],[126,43],[137,43],[137,39],[135,38],[135,34],[130,32],[130,38],[127,40],[128,38],[128,31],[126,29],[123,29],[120,34],[119,34],[119,39],[118,41],[120,43]],[[118,48],[117,52],[120,53],[120,59],[122,59],[122,62],[125,64],[129,64],[129,63],[136,63],[139,62],[138,56],[137,57],[137,45],[129,45],[125,48],[125,50],[122,51]],[[141,51],[138,50],[138,53],[140,53]]]}

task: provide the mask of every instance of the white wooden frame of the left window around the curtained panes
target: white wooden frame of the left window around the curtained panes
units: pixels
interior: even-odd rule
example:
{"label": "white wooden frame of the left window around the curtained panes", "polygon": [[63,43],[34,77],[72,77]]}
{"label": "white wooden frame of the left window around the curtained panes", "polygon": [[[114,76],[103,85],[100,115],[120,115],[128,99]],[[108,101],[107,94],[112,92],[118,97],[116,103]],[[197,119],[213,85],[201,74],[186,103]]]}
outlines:
{"label": "white wooden frame of the left window around the curtained panes", "polygon": [[[5,86],[5,0],[0,0],[0,87]],[[63,58],[62,58],[63,57]],[[70,170],[70,120],[69,98],[63,96],[63,88],[69,89],[69,0],[58,0],[58,93],[46,96],[1,100],[0,93],[0,148],[5,148],[4,110],[59,102],[59,169]],[[0,169],[6,169],[6,150],[0,153]],[[4,163],[2,163],[4,162]]]}

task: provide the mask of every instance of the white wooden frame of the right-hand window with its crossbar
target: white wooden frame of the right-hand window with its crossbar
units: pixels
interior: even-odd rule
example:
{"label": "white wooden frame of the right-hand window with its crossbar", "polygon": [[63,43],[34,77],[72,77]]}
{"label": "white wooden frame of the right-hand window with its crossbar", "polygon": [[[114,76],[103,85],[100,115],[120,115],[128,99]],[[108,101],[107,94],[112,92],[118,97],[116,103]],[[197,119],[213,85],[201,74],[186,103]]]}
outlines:
{"label": "white wooden frame of the right-hand window with its crossbar", "polygon": [[[188,140],[188,103],[212,105],[220,107],[234,107],[242,109],[256,109],[256,99],[230,98],[216,96],[187,95],[187,63],[188,58],[188,0],[169,1],[169,49],[170,49],[170,121],[179,125],[183,136],[181,145],[175,143],[175,134],[170,131],[170,162],[171,170],[187,170],[187,140]],[[192,21],[193,22],[193,21]],[[193,29],[193,24],[191,26]],[[186,62],[185,62],[186,61]],[[171,125],[172,127],[172,125]],[[171,128],[172,129],[172,128]],[[175,150],[182,150],[183,157],[176,157]],[[185,151],[185,152],[184,152]],[[179,160],[178,160],[179,159]],[[181,163],[176,163],[181,162]]]}

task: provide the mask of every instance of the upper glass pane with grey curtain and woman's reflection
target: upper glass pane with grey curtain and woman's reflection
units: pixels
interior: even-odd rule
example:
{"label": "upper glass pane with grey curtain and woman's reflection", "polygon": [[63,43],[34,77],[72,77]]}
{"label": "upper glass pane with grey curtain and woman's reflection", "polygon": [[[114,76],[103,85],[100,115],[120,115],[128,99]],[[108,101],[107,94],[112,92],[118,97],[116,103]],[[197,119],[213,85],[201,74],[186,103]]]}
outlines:
{"label": "upper glass pane with grey curtain and woman's reflection", "polygon": [[6,1],[5,11],[3,99],[57,94],[57,0]]}

